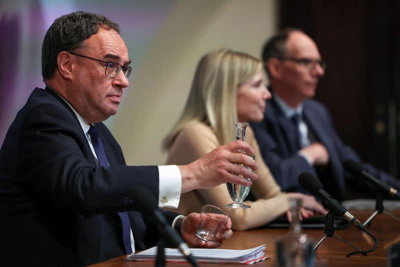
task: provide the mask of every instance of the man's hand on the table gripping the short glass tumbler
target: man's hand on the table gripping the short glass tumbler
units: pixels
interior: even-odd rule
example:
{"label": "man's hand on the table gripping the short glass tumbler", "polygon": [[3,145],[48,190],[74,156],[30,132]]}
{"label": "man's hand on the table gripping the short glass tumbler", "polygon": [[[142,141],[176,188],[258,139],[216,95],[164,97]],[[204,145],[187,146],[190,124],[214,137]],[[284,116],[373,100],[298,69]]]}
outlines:
{"label": "man's hand on the table gripping the short glass tumbler", "polygon": [[196,236],[197,224],[199,221],[200,213],[190,213],[182,221],[180,232],[183,240],[189,245],[202,248],[215,248],[220,246],[223,240],[230,238],[233,234],[230,229],[232,227],[232,222],[230,218],[228,218],[225,228],[223,228],[220,233],[216,234],[215,240],[204,242]]}

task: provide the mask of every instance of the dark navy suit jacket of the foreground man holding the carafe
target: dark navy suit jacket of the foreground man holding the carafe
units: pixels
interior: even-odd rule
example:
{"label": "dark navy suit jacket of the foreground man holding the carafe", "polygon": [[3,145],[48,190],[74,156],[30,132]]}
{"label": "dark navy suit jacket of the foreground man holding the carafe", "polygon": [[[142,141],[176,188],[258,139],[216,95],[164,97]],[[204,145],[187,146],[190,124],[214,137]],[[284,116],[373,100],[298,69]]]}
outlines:
{"label": "dark navy suit jacket of the foreground man holding the carafe", "polygon": [[[126,253],[116,212],[137,208],[129,188],[145,186],[158,196],[158,168],[126,166],[105,125],[95,127],[108,169],[96,166],[62,99],[39,88],[29,96],[0,150],[0,265],[81,265]],[[156,231],[144,238],[142,216],[128,215],[135,248],[143,249]]]}

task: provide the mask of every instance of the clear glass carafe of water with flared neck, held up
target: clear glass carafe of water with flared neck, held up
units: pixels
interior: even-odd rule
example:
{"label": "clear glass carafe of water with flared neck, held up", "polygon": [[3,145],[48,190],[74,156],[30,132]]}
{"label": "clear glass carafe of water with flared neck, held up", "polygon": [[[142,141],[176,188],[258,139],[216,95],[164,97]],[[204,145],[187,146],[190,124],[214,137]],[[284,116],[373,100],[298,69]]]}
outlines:
{"label": "clear glass carafe of water with flared neck, held up", "polygon": [[[246,133],[246,127],[248,126],[247,122],[235,122],[233,123],[236,126],[236,140],[241,140],[244,142],[244,135]],[[244,151],[239,150],[237,153],[246,154]],[[254,155],[250,155],[252,159],[255,159]],[[243,164],[239,164],[243,166]],[[245,166],[246,168],[250,169],[250,167]],[[243,177],[251,182],[251,179],[248,177],[244,177],[240,174],[238,176]],[[232,199],[232,203],[226,204],[225,207],[229,208],[249,208],[249,205],[243,204],[244,198],[248,195],[250,191],[250,186],[245,186],[241,184],[233,184],[233,183],[226,183],[226,188],[228,189],[229,196]]]}

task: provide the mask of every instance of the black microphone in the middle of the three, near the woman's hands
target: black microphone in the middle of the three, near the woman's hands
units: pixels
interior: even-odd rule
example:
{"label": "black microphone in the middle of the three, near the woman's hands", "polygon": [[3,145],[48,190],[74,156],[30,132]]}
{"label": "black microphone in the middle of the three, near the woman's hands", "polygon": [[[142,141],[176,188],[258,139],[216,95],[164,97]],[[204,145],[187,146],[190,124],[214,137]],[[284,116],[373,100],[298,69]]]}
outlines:
{"label": "black microphone in the middle of the three, near the woman's hands", "polygon": [[327,207],[332,213],[341,217],[354,225],[355,227],[362,229],[361,223],[357,220],[350,212],[347,211],[345,207],[343,207],[337,200],[332,199],[325,190],[322,189],[322,184],[314,175],[309,172],[302,172],[298,176],[298,182],[301,187],[307,192],[317,195],[327,204]]}

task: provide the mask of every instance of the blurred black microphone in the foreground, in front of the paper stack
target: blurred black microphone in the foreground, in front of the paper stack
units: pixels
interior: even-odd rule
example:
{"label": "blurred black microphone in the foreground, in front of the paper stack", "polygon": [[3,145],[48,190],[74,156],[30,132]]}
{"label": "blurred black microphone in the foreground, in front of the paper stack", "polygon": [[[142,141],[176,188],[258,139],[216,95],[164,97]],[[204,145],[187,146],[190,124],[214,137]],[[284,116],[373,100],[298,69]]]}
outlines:
{"label": "blurred black microphone in the foreground, in front of the paper stack", "polygon": [[180,252],[182,252],[193,266],[198,266],[187,244],[182,240],[180,235],[172,229],[171,225],[169,225],[165,219],[165,216],[158,209],[158,203],[154,195],[146,187],[138,187],[135,189],[137,190],[134,190],[134,196],[138,209],[146,214],[152,215],[158,225],[162,227],[160,229],[160,234],[163,238],[171,243],[171,245],[177,246]]}

